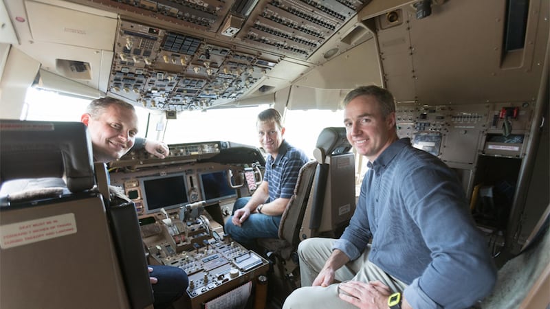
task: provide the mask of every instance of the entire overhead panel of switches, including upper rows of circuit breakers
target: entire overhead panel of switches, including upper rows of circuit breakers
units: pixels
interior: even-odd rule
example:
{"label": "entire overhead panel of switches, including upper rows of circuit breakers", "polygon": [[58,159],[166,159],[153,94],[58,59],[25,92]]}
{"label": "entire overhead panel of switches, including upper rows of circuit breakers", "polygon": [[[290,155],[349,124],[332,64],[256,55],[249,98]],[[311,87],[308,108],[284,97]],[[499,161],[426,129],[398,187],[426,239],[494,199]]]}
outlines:
{"label": "entire overhead panel of switches, including upper rows of circuit breakers", "polygon": [[234,104],[288,87],[320,64],[308,59],[369,2],[73,1],[120,14],[109,94],[165,111]]}

